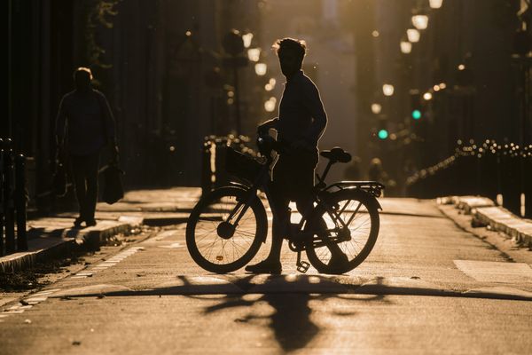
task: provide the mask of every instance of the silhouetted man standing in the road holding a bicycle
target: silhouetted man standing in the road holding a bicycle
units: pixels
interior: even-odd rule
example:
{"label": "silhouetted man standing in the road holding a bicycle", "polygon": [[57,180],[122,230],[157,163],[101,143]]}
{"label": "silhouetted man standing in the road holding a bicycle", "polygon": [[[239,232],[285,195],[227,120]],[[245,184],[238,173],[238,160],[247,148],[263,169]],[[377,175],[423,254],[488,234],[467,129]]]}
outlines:
{"label": "silhouetted man standing in the road holding a bicycle", "polygon": [[285,91],[279,104],[279,116],[263,122],[259,134],[273,129],[278,132],[278,142],[286,146],[279,154],[273,169],[270,185],[273,203],[278,210],[272,225],[270,255],[261,263],[246,266],[247,272],[280,273],[283,239],[290,221],[290,201],[306,215],[313,208],[312,189],[317,166],[317,142],[327,125],[327,114],[316,84],[301,70],[306,52],[304,41],[284,38],[274,43],[274,49],[283,75]]}

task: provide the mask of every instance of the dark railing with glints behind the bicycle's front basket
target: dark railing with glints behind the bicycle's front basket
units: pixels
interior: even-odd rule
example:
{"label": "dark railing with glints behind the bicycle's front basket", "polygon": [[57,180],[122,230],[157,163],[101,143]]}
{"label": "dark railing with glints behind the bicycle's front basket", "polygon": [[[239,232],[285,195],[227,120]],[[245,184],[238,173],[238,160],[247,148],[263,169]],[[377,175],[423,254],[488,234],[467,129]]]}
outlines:
{"label": "dark railing with glints behind the bicycle's front basket", "polygon": [[255,155],[253,149],[246,146],[249,138],[246,136],[207,136],[203,142],[201,193],[208,193],[216,187],[227,185],[231,177],[225,170],[224,147],[231,146],[238,152]]}

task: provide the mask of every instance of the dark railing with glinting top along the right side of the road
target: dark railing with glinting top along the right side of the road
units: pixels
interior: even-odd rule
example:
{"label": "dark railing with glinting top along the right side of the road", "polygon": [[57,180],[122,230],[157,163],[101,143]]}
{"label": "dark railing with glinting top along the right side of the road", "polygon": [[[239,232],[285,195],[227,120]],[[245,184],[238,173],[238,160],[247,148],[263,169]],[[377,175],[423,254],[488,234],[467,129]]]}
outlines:
{"label": "dark railing with glinting top along the right side of the road", "polygon": [[532,217],[532,145],[470,141],[443,162],[407,179],[412,197],[477,194],[521,217]]}

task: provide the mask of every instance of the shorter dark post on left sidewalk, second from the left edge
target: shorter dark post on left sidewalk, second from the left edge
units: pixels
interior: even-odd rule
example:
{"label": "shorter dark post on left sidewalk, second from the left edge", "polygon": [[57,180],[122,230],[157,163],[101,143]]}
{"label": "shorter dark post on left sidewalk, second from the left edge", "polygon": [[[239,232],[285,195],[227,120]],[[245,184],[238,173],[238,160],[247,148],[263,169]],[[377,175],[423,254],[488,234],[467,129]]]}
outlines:
{"label": "shorter dark post on left sidewalk, second from the left edge", "polygon": [[26,158],[19,154],[15,159],[15,210],[17,213],[17,250],[27,250],[26,235]]}

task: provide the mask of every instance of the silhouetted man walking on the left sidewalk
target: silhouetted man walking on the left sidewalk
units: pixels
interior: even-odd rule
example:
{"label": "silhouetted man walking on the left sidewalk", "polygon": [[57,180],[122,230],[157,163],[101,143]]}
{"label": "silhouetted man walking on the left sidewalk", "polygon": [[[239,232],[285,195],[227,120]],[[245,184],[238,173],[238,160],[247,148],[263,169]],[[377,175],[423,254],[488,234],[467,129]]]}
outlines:
{"label": "silhouetted man walking on the left sidewalk", "polygon": [[110,146],[113,159],[118,159],[114,118],[106,96],[91,87],[92,73],[87,67],[74,71],[74,91],[59,104],[56,121],[58,149],[67,155],[79,204],[79,217],[74,227],[96,225],[94,213],[98,200],[99,156]]}

